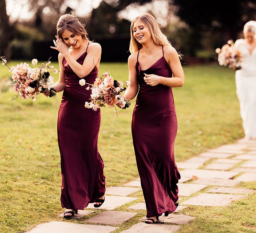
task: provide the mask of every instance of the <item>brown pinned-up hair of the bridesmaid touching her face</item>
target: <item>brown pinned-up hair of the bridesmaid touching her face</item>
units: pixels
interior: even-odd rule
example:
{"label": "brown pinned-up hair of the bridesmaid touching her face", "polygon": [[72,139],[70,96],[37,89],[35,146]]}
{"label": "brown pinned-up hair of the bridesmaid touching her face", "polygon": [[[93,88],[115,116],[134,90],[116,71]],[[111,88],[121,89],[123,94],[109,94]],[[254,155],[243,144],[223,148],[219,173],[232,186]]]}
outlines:
{"label": "brown pinned-up hair of the bridesmaid touching her face", "polygon": [[63,32],[69,30],[76,35],[81,35],[85,41],[90,41],[88,39],[88,33],[84,27],[85,25],[82,24],[76,16],[65,14],[62,15],[57,22],[57,36],[63,40]]}

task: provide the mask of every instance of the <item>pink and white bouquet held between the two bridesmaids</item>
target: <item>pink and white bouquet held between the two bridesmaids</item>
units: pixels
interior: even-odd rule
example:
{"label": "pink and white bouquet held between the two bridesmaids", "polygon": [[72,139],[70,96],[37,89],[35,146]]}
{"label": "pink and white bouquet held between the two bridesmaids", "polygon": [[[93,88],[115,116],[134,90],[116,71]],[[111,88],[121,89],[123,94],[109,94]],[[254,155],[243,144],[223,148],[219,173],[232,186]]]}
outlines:
{"label": "pink and white bouquet held between the two bridesmaids", "polygon": [[84,79],[79,80],[79,84],[81,86],[88,84],[86,89],[92,90],[91,102],[85,102],[85,107],[88,109],[96,111],[98,108],[105,107],[105,104],[107,104],[109,108],[114,107],[114,112],[116,113],[115,105],[118,105],[121,109],[127,109],[131,105],[131,101],[125,100],[122,96],[122,92],[129,87],[130,82],[126,81],[125,84],[123,84],[121,81],[114,80],[109,72],[105,72],[96,78],[93,85],[86,83]]}

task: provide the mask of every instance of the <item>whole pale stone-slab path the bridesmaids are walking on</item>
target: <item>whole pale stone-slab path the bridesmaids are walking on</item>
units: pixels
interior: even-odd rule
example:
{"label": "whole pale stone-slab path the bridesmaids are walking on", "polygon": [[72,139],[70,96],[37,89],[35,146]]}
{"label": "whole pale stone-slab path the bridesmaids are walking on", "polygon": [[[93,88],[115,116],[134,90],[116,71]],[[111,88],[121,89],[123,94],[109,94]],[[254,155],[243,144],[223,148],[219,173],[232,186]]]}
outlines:
{"label": "whole pale stone-slab path the bridesmaids are walking on", "polygon": [[[143,223],[146,217],[141,218],[141,213],[145,213],[146,204],[136,197],[141,195],[142,190],[140,179],[135,178],[124,186],[106,188],[106,201],[97,212],[93,204],[78,211],[75,218],[79,219],[79,223],[63,220],[61,213],[60,221],[37,225],[29,232],[107,233],[118,229],[123,233],[175,232],[182,224],[195,219],[182,211],[189,205],[227,206],[255,192],[235,186],[241,181],[256,181],[256,141],[240,139],[235,144],[223,145],[184,162],[177,162],[177,166],[181,174],[178,183],[179,206],[168,217],[160,216],[161,224]],[[138,220],[141,222],[137,223]],[[127,229],[123,224],[127,221],[134,222],[134,225]],[[122,231],[120,226],[125,230]]]}

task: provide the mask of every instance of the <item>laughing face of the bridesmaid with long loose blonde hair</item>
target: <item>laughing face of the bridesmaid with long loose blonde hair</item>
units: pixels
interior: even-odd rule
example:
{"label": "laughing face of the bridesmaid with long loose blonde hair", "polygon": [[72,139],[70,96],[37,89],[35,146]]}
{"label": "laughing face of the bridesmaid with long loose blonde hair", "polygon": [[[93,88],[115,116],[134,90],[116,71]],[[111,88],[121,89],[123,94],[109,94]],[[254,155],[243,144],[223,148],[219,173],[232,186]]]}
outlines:
{"label": "laughing face of the bridesmaid with long loose blonde hair", "polygon": [[140,43],[143,44],[150,39],[152,40],[152,36],[148,28],[144,23],[142,23],[140,20],[136,20],[133,23],[133,36],[134,38]]}

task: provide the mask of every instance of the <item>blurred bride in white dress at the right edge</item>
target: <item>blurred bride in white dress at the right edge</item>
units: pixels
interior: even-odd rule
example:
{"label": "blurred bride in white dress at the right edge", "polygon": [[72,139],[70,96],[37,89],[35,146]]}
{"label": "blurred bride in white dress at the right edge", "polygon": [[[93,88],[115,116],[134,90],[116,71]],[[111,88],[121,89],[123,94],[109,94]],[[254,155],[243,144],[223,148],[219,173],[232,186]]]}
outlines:
{"label": "blurred bride in white dress at the right edge", "polygon": [[241,69],[236,71],[236,94],[246,139],[256,139],[256,21],[244,25],[244,38],[235,42],[241,52]]}

